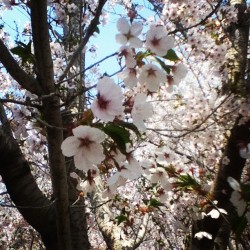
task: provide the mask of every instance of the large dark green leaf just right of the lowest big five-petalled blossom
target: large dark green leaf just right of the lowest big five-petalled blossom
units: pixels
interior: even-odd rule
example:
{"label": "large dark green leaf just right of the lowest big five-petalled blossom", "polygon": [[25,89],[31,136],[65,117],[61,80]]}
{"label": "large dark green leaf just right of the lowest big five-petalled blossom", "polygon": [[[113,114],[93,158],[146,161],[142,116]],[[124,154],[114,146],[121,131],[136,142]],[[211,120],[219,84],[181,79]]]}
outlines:
{"label": "large dark green leaf just right of the lowest big five-petalled blossom", "polygon": [[112,123],[108,123],[101,129],[105,134],[107,134],[114,140],[121,153],[126,154],[126,144],[131,143],[131,140],[129,139],[129,131],[121,126]]}

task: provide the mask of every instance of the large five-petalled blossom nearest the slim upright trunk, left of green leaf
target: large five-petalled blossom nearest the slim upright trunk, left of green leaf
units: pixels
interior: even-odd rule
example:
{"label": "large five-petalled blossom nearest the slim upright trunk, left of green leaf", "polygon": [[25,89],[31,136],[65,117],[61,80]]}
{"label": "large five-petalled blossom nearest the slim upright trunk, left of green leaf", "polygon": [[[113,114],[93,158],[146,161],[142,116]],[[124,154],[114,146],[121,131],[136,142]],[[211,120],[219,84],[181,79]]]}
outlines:
{"label": "large five-petalled blossom nearest the slim upright trunk, left of green leaf", "polygon": [[80,170],[94,169],[94,164],[105,159],[101,146],[105,134],[97,128],[82,125],[72,132],[73,136],[66,138],[61,145],[63,155],[74,156],[75,166]]}

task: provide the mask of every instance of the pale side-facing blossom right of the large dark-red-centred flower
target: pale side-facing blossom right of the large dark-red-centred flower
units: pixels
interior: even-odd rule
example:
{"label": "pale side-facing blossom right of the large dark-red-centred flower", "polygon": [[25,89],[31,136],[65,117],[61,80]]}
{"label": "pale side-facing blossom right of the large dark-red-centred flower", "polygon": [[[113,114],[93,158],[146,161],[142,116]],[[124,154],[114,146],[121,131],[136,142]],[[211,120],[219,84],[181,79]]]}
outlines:
{"label": "pale side-facing blossom right of the large dark-red-centred flower", "polygon": [[133,123],[138,129],[146,130],[144,121],[153,115],[153,106],[151,103],[146,102],[147,96],[139,93],[135,96],[133,109],[131,112]]}

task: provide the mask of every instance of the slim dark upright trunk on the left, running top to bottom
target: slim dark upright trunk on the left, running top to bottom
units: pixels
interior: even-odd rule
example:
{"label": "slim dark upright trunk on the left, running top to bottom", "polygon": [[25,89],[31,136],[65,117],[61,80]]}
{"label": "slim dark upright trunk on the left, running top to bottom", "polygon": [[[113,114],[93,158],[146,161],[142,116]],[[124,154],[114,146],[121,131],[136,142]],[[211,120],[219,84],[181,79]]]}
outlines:
{"label": "slim dark upright trunk on the left, running top to bottom", "polygon": [[[49,95],[56,92],[53,61],[51,58],[49,27],[47,23],[47,2],[30,1],[32,37],[36,58],[37,78]],[[43,101],[43,113],[47,126],[49,165],[53,195],[56,203],[56,224],[58,244],[61,249],[71,249],[69,199],[65,160],[60,145],[63,141],[60,100],[56,95]]]}

